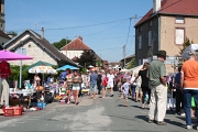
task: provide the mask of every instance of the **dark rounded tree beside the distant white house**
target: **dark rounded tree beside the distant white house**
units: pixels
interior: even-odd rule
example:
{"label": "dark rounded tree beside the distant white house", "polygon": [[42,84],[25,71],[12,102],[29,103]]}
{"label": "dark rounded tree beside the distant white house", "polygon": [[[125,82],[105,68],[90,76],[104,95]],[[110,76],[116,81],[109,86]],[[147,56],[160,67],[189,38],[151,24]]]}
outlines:
{"label": "dark rounded tree beside the distant white house", "polygon": [[79,65],[87,68],[89,65],[95,66],[96,65],[96,54],[94,51],[84,51],[81,56],[78,59]]}

